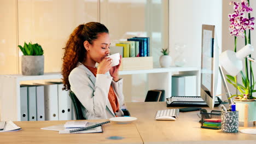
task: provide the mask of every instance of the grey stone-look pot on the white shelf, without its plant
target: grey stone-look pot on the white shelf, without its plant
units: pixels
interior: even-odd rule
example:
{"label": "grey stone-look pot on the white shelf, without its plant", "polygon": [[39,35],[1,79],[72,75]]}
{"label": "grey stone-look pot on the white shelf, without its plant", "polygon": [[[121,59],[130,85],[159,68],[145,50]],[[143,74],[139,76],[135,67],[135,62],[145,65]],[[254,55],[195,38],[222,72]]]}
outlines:
{"label": "grey stone-look pot on the white shelf, without its plant", "polygon": [[22,56],[22,75],[44,75],[44,56]]}

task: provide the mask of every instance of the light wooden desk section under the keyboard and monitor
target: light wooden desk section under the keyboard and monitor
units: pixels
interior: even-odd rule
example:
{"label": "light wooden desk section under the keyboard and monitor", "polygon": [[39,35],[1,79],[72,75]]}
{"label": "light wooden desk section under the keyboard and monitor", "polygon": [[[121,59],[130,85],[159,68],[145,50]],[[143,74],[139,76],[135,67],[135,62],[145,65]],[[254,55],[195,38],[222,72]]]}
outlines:
{"label": "light wooden desk section under the keyboard and monitor", "polygon": [[155,121],[157,110],[177,107],[166,107],[165,102],[126,103],[126,105],[131,116],[138,118],[135,123],[144,143],[256,143],[256,135],[223,133],[221,130],[200,128],[200,118],[196,115],[199,111],[180,112],[176,121]]}

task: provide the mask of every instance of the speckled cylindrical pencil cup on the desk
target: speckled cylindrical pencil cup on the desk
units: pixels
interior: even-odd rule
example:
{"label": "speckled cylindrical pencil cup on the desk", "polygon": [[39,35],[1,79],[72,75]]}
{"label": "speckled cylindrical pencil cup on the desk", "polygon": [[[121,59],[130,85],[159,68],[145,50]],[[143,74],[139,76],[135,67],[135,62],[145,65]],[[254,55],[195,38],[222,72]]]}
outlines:
{"label": "speckled cylindrical pencil cup on the desk", "polygon": [[225,133],[237,133],[238,127],[238,111],[222,111],[222,131]]}

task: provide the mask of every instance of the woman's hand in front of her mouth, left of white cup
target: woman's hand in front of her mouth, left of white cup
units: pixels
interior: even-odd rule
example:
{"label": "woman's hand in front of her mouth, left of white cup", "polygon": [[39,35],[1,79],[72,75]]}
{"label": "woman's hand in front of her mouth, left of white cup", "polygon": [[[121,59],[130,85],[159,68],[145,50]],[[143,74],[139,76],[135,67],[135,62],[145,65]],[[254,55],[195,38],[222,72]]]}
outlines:
{"label": "woman's hand in front of her mouth, left of white cup", "polygon": [[106,74],[111,68],[112,60],[109,57],[105,57],[98,64],[97,74]]}

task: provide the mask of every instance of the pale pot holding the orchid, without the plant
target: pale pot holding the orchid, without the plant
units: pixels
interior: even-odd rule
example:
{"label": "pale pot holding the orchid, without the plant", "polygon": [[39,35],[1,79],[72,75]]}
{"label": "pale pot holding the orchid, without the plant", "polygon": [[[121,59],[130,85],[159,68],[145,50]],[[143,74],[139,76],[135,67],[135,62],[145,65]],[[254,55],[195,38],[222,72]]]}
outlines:
{"label": "pale pot holding the orchid, without the plant", "polygon": [[245,122],[245,105],[248,104],[248,122],[256,121],[256,101],[235,100],[236,110],[239,111],[239,122]]}

